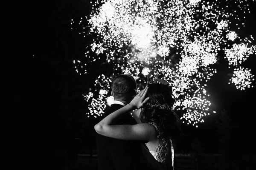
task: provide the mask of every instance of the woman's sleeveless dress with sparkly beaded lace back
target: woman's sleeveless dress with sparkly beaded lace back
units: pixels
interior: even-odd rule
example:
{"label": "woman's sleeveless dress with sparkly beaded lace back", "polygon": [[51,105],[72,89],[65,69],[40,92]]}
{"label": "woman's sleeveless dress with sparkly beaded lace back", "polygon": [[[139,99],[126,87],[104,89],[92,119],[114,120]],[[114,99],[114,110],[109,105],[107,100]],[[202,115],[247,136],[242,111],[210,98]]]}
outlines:
{"label": "woman's sleeveless dress with sparkly beaded lace back", "polygon": [[[154,122],[149,122],[149,124],[153,125],[157,131],[158,144],[156,151],[148,151],[151,153],[152,156],[154,156],[154,159],[156,159],[162,167],[165,167],[165,169],[167,170],[173,170],[174,149],[171,137],[164,136],[163,132]],[[159,139],[162,139],[163,144],[159,144]]]}

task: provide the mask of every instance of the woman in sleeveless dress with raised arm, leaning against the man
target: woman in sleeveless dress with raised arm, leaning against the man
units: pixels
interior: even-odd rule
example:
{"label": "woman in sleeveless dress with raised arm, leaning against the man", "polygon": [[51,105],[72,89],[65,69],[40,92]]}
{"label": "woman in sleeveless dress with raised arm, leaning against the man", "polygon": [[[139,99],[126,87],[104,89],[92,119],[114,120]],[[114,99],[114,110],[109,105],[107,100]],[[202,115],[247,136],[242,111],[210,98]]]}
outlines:
{"label": "woman in sleeveless dress with raised arm, leaning against the man", "polygon": [[[180,119],[172,111],[175,99],[172,88],[164,79],[157,78],[140,91],[124,107],[102,119],[94,129],[115,139],[140,140],[144,154],[156,169],[173,169],[172,139],[180,136]],[[136,110],[136,111],[134,111]],[[136,125],[115,125],[125,113],[133,112]],[[153,160],[153,161],[152,161]]]}

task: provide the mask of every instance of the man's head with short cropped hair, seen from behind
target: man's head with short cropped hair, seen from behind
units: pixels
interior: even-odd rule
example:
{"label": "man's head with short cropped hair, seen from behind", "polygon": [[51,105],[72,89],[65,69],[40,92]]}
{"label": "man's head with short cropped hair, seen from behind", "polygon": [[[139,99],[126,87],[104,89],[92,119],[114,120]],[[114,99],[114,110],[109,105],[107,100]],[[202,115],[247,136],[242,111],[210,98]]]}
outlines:
{"label": "man's head with short cropped hair, seen from behind", "polygon": [[130,102],[136,95],[137,84],[129,74],[121,74],[111,82],[111,94],[114,100]]}

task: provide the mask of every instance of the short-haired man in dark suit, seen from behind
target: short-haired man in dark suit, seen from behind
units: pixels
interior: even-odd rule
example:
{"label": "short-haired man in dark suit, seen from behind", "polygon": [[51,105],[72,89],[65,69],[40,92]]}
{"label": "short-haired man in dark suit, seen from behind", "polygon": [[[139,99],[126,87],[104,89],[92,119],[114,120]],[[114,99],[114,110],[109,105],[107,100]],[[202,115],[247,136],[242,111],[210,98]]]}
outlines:
{"label": "short-haired man in dark suit, seen from behind", "polygon": [[[102,119],[127,105],[136,92],[136,81],[131,75],[121,74],[111,83],[111,94],[114,102],[106,111]],[[126,114],[117,125],[135,125],[131,114]],[[96,133],[99,170],[141,170],[140,142],[113,139]]]}

